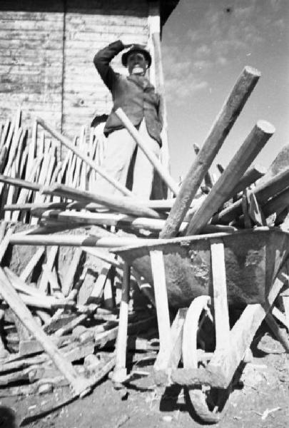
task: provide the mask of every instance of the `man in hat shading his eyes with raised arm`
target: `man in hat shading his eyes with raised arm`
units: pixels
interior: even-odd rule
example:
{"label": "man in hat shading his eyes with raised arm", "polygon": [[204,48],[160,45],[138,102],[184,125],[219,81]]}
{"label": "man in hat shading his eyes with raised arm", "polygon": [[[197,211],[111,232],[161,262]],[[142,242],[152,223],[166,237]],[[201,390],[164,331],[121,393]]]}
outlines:
{"label": "man in hat shading his eyes with raised arm", "polygon": [[[128,76],[123,76],[113,71],[110,62],[128,48],[121,58],[123,66],[128,68]],[[151,55],[141,45],[124,45],[119,40],[98,51],[93,63],[113,97],[113,109],[103,130],[108,141],[101,166],[123,185],[126,185],[129,168],[134,166],[132,191],[138,198],[149,199],[153,166],[141,149],[137,148],[136,142],[114,111],[121,107],[141,133],[148,149],[159,156],[163,126],[160,96],[146,78],[146,71],[151,66]],[[118,194],[118,190],[102,177],[98,177],[96,185],[99,193]]]}

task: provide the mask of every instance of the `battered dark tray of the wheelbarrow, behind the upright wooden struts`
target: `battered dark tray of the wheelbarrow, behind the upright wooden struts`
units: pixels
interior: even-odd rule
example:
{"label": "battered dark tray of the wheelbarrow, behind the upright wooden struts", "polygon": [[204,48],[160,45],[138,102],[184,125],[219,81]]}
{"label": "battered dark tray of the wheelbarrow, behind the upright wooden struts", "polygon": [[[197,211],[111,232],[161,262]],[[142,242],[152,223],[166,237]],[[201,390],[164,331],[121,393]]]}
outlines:
{"label": "battered dark tray of the wheelbarrow, behind the upright wooden struts", "polygon": [[255,228],[232,234],[188,236],[115,250],[153,290],[150,251],[163,252],[168,304],[188,307],[201,295],[212,295],[211,243],[222,240],[228,305],[266,302],[275,276],[288,256],[289,234],[278,228]]}

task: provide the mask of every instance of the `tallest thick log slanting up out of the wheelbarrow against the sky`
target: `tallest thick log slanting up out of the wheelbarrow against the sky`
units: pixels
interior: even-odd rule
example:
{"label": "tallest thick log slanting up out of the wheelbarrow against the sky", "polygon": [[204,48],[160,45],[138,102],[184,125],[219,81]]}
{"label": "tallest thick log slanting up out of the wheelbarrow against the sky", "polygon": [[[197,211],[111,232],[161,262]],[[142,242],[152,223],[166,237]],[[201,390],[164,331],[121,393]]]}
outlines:
{"label": "tallest thick log slanting up out of the wheelbarrow against the sky", "polygon": [[196,195],[206,172],[213,163],[216,154],[225,141],[225,137],[235,123],[236,118],[238,118],[259,77],[259,71],[250,67],[244,68],[216,121],[213,123],[196,161],[193,162],[186,178],[183,180],[176,203],[168,215],[160,238],[173,238],[178,233],[188,207],[191,205],[191,201]]}

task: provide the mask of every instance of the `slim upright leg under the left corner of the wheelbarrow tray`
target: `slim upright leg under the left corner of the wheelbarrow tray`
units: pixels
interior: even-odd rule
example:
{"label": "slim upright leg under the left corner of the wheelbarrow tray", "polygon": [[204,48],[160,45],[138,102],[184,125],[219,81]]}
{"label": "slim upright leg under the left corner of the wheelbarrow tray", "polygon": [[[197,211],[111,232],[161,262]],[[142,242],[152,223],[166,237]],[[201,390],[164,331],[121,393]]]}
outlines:
{"label": "slim upright leg under the left corner of the wheelbarrow tray", "polygon": [[121,307],[119,310],[118,337],[116,341],[116,367],[113,371],[113,382],[125,382],[127,378],[126,371],[126,345],[128,335],[128,302],[131,279],[131,266],[124,264],[123,282],[121,293]]}

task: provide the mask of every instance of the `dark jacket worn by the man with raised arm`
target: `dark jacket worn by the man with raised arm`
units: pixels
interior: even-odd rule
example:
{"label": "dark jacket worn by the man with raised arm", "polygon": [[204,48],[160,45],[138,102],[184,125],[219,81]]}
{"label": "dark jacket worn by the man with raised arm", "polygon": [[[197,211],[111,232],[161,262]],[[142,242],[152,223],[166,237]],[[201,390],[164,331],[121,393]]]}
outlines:
{"label": "dark jacket worn by the man with raised arm", "polygon": [[123,129],[123,124],[114,113],[117,108],[121,107],[136,128],[144,117],[148,134],[161,146],[160,134],[163,121],[160,111],[160,96],[156,93],[155,88],[146,77],[123,76],[113,71],[109,65],[114,56],[123,49],[123,43],[115,41],[98,51],[93,59],[98,73],[113,97],[113,109],[106,121],[104,134],[108,136],[113,131]]}

